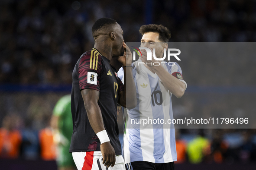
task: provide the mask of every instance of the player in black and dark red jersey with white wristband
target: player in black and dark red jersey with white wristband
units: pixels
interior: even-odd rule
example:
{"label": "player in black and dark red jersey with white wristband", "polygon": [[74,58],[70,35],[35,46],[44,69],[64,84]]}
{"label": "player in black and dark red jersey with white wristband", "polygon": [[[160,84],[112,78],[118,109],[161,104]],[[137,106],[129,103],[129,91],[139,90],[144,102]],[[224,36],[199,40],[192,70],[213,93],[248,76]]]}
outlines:
{"label": "player in black and dark red jersey with white wristband", "polygon": [[[117,103],[126,108],[136,106],[132,56],[123,41],[123,30],[115,20],[98,19],[92,35],[94,48],[82,54],[72,74],[73,134],[69,151],[78,170],[124,170]],[[110,65],[112,57],[118,57],[125,70],[124,85]]]}

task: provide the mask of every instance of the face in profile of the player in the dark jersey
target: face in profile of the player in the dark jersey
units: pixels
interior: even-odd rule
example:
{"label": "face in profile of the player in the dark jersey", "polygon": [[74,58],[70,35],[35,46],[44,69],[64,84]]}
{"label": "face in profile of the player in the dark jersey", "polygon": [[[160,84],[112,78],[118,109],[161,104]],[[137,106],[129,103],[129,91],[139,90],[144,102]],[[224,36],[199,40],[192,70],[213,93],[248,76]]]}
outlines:
{"label": "face in profile of the player in the dark jersey", "polygon": [[115,49],[117,49],[116,52],[114,52],[113,57],[119,57],[123,56],[124,50],[123,50],[123,29],[119,24],[116,25],[115,27],[115,35],[116,35],[116,40],[115,40]]}

